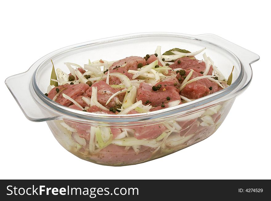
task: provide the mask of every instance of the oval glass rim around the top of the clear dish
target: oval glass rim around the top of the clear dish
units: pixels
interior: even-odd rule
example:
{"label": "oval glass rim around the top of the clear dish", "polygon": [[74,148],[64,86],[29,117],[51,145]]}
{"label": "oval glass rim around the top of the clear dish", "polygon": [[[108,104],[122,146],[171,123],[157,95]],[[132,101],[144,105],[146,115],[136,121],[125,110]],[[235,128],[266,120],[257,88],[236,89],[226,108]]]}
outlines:
{"label": "oval glass rim around the top of the clear dish", "polygon": [[[204,34],[205,35],[205,34]],[[213,34],[207,34],[207,35],[213,35]],[[108,43],[108,42],[113,42],[113,41],[119,41],[119,40],[127,40],[127,39],[132,39],[132,38],[138,38],[138,37],[155,37],[155,36],[164,36],[164,37],[180,37],[180,38],[187,38],[191,40],[197,40],[197,41],[203,41],[205,43],[209,43],[211,45],[216,46],[217,48],[220,48],[233,56],[237,63],[240,66],[240,73],[237,77],[237,79],[229,86],[226,87],[225,89],[218,91],[214,94],[204,96],[200,99],[196,99],[192,102],[184,103],[178,106],[173,106],[169,108],[165,108],[163,110],[156,110],[148,113],[140,113],[140,114],[125,114],[125,115],[118,115],[118,114],[96,114],[96,113],[90,113],[90,112],[83,112],[80,110],[74,110],[71,108],[68,108],[66,106],[63,106],[59,103],[56,103],[49,99],[47,96],[44,95],[44,93],[39,89],[37,82],[36,82],[36,72],[39,68],[42,68],[43,63],[47,62],[48,60],[53,59],[56,56],[59,56],[63,54],[64,52],[72,51],[78,48],[83,48],[87,46],[92,46],[92,45],[98,45],[102,43]],[[99,121],[99,122],[137,122],[137,121],[143,121],[143,120],[148,120],[148,119],[157,119],[157,118],[163,118],[168,115],[174,115],[174,114],[180,114],[181,112],[185,112],[191,109],[198,108],[200,106],[204,106],[210,102],[217,101],[221,99],[221,101],[218,102],[224,102],[226,100],[229,100],[233,97],[236,97],[241,91],[243,91],[250,83],[249,82],[245,86],[240,86],[242,79],[245,74],[245,69],[241,63],[241,61],[238,59],[238,57],[231,52],[230,50],[215,44],[210,41],[205,41],[199,38],[196,38],[197,35],[187,35],[187,34],[181,34],[181,33],[167,33],[167,32],[148,32],[148,33],[134,33],[134,34],[127,34],[127,35],[122,35],[122,36],[116,36],[116,37],[109,37],[109,38],[103,38],[99,40],[94,40],[94,41],[87,41],[84,43],[80,44],[74,44],[70,45],[61,49],[58,49],[54,52],[51,52],[47,54],[46,56],[43,56],[40,60],[38,60],[36,63],[32,65],[32,67],[36,66],[36,69],[32,75],[32,82],[30,83],[33,87],[33,91],[31,92],[32,95],[36,95],[37,98],[35,100],[40,103],[40,100],[45,103],[46,106],[48,106],[50,109],[53,111],[51,112],[57,112],[61,114],[65,114],[69,117],[77,118],[77,119],[83,119],[83,120],[92,120],[92,121]],[[42,60],[42,62],[40,62]],[[235,93],[233,93],[235,92]],[[227,95],[232,94],[233,97],[229,97],[228,99],[224,99]],[[33,96],[35,97],[35,96]],[[42,105],[42,104],[41,104]],[[43,105],[42,105],[43,106]],[[66,117],[65,117],[66,118]]]}

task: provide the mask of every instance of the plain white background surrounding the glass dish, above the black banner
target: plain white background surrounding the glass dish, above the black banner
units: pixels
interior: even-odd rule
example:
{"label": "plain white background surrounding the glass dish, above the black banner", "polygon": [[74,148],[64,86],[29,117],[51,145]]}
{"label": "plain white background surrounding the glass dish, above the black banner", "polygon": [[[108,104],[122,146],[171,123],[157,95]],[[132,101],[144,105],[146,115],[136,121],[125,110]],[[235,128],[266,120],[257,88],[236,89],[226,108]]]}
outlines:
{"label": "plain white background surrounding the glass dish, above the black banner", "polygon": [[[0,179],[271,179],[270,10],[263,2],[4,1],[0,18]],[[167,157],[126,167],[81,160],[46,122],[28,121],[4,84],[56,49],[159,31],[213,33],[261,57],[216,133]]]}

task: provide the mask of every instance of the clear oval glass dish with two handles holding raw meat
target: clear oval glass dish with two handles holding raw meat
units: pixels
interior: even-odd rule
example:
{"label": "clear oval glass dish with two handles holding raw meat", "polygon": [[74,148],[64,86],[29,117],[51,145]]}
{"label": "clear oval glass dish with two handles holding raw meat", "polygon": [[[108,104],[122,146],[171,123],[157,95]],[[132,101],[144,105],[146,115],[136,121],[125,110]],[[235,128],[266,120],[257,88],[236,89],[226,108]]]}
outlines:
{"label": "clear oval glass dish with two handles holding raw meat", "polygon": [[[233,83],[214,94],[179,106],[123,116],[73,110],[44,95],[50,81],[51,59],[55,67],[64,68],[64,62],[85,64],[88,59],[118,60],[142,56],[154,52],[157,45],[163,50],[179,47],[191,52],[206,47],[206,54],[225,76],[235,66]],[[196,58],[202,59],[200,55]],[[47,121],[55,138],[69,152],[97,164],[122,166],[164,157],[212,135],[226,118],[235,98],[249,86],[252,79],[250,64],[257,60],[257,54],[212,34],[138,33],[56,50],[35,62],[28,71],[7,78],[6,85],[26,118],[34,122]],[[203,123],[203,118],[208,118],[209,123]],[[63,125],[68,125],[68,129]],[[116,139],[118,137],[114,135],[123,131],[130,136],[153,132],[151,130],[157,126],[164,126],[167,132],[162,136],[156,133],[155,139]],[[99,147],[95,133],[107,131],[113,133],[114,139],[106,147]]]}

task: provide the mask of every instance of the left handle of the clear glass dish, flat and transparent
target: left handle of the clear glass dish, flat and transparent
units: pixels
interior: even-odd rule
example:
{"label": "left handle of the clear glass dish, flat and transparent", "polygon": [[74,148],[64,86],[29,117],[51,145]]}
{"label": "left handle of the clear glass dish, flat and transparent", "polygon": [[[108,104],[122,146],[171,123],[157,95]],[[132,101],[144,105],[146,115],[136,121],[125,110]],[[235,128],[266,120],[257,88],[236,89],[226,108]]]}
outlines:
{"label": "left handle of the clear glass dish, flat and transparent", "polygon": [[33,99],[30,92],[32,75],[33,70],[30,68],[24,73],[10,76],[5,80],[6,86],[30,121],[42,122],[57,118],[54,113],[49,112]]}

